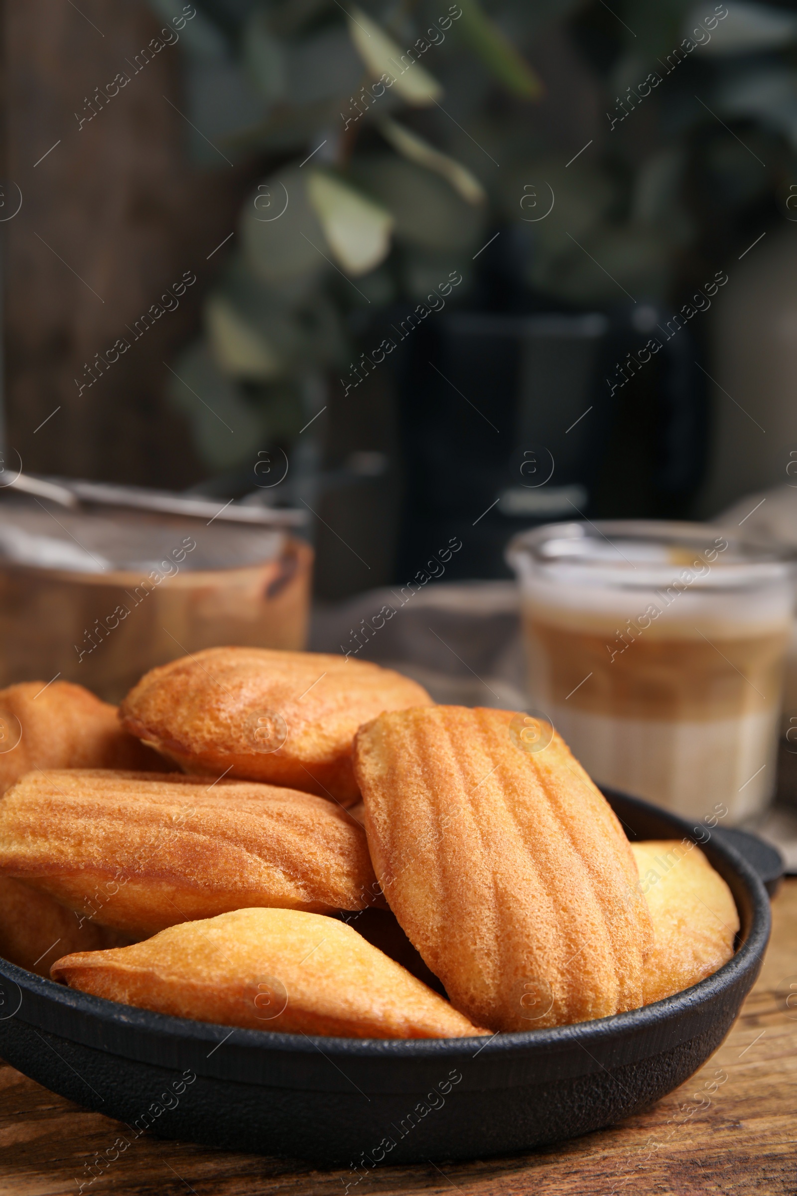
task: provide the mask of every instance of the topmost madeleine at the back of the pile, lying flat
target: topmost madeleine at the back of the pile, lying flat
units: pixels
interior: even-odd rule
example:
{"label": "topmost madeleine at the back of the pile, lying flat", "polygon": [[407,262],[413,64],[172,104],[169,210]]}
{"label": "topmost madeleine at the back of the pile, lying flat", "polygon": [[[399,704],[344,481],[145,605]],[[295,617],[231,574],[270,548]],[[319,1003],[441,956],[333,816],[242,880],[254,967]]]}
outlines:
{"label": "topmost madeleine at the back of the pile, lying flat", "polygon": [[416,682],[342,655],[207,648],[153,669],[121,706],[123,725],[188,773],[210,773],[352,805],[357,727],[431,704]]}

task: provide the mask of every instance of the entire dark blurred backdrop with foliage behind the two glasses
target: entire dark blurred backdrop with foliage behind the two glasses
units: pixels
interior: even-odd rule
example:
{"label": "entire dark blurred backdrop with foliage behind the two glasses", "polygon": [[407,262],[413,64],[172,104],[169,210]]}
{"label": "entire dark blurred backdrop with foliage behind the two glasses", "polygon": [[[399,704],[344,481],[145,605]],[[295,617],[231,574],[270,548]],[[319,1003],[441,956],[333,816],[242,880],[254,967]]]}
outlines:
{"label": "entire dark blurred backdrop with foliage behind the two glasses", "polygon": [[329,600],[786,483],[795,5],[27,0],[4,60],[7,463],[305,506]]}

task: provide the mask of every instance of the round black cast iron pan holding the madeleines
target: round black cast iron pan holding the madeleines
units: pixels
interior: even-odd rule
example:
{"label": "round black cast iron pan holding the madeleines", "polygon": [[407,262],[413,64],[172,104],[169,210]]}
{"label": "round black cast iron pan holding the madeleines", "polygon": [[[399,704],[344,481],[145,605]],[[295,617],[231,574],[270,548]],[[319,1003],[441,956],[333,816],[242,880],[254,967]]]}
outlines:
{"label": "round black cast iron pan holding the madeleines", "polygon": [[[0,1055],[125,1122],[129,1142],[149,1129],[352,1165],[351,1184],[382,1161],[509,1154],[612,1124],[678,1087],[722,1043],[759,974],[770,901],[722,835],[603,792],[631,840],[699,842],[738,907],[734,958],[664,1001],[491,1039],[309,1038],[116,1005],[0,960]],[[116,1136],[109,1158],[127,1148]]]}

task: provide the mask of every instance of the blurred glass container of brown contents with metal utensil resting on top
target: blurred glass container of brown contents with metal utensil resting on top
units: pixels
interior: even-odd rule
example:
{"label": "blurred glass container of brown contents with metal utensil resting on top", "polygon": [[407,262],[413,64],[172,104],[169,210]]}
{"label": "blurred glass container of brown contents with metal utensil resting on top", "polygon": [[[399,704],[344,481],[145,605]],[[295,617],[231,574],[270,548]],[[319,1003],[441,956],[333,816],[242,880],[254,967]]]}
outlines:
{"label": "blurred glass container of brown contents with metal utensil resting on top", "polygon": [[5,494],[0,685],[59,676],[118,702],[186,652],[304,648],[312,561],[280,529]]}

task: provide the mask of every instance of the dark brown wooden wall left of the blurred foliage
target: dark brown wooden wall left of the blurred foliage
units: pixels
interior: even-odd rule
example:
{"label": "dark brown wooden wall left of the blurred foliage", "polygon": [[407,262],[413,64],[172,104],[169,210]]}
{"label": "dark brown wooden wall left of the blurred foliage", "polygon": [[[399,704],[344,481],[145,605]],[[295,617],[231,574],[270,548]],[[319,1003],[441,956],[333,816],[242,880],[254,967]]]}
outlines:
{"label": "dark brown wooden wall left of the blurred foliage", "polygon": [[[235,227],[253,172],[186,163],[188,126],[167,103],[185,111],[179,44],[134,73],[163,25],[143,0],[5,5],[0,213],[13,210],[13,184],[23,194],[0,224],[6,443],[30,471],[174,487],[203,472],[165,403],[163,361],[198,327],[202,291],[234,240],[207,255]],[[130,81],[80,127],[74,114],[88,115],[86,98],[119,71]],[[185,270],[198,281],[179,307],[133,341],[127,325]],[[79,393],[84,362],[119,336],[130,349]]]}

